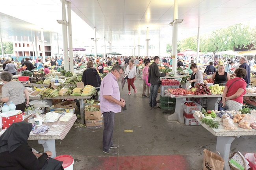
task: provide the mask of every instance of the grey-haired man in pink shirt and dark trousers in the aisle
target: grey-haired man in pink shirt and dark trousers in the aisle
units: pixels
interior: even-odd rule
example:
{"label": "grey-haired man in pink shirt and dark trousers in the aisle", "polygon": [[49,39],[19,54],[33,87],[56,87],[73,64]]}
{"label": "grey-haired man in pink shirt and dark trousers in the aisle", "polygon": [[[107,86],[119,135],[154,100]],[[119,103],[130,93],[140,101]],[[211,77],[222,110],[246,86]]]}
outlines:
{"label": "grey-haired man in pink shirt and dark trousers in the aisle", "polygon": [[118,148],[118,144],[112,141],[114,130],[115,113],[121,112],[125,101],[120,98],[120,91],[117,80],[124,73],[120,65],[114,65],[110,73],[104,77],[100,85],[100,111],[104,119],[103,131],[103,152],[115,155],[117,152],[113,148]]}

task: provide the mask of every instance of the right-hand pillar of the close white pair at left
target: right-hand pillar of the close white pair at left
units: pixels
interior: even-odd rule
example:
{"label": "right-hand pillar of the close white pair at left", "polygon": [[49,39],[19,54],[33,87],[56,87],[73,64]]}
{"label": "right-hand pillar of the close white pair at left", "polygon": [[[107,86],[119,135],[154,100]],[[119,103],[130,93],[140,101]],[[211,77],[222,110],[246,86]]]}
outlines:
{"label": "right-hand pillar of the close white pair at left", "polygon": [[70,71],[74,71],[73,62],[73,43],[72,43],[72,24],[71,24],[71,2],[67,1],[67,12],[68,12],[68,28],[69,28],[69,66]]}

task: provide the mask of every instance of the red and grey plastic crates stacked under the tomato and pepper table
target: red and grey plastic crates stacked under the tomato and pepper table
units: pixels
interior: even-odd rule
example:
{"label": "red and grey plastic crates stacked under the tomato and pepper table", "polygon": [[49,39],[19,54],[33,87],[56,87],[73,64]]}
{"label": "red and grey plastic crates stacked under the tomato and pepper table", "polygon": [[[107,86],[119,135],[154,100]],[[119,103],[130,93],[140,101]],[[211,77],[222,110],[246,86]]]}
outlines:
{"label": "red and grey plastic crates stacked under the tomato and pepper table", "polygon": [[195,119],[195,117],[193,116],[193,113],[195,113],[195,111],[197,110],[201,111],[201,109],[202,106],[200,106],[196,102],[186,101],[184,103],[184,124],[186,124],[187,126],[200,125],[197,119]]}

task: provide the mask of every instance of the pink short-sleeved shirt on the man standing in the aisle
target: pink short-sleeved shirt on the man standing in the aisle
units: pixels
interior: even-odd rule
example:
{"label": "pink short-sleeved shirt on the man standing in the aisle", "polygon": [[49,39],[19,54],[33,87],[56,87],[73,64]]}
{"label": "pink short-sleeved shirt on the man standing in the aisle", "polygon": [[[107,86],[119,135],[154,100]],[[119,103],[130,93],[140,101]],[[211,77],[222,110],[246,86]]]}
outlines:
{"label": "pink short-sleeved shirt on the man standing in the aisle", "polygon": [[110,95],[120,101],[120,92],[117,79],[110,72],[104,77],[100,85],[100,111],[104,112],[121,112],[121,106],[113,102],[109,102],[103,95]]}

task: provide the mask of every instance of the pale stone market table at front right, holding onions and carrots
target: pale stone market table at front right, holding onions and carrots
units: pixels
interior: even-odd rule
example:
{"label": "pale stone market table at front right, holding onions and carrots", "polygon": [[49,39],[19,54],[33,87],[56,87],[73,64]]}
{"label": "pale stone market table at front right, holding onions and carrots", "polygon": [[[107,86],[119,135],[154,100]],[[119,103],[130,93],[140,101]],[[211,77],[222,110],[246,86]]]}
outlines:
{"label": "pale stone market table at front right, holding onions and carrots", "polygon": [[[198,122],[200,122],[200,119],[195,114],[193,114],[193,116]],[[256,130],[239,128],[238,123],[234,123],[235,126],[237,126],[237,130],[225,130],[222,126],[223,123],[219,122],[219,124],[220,126],[218,129],[210,128],[205,123],[202,123],[201,125],[213,135],[217,136],[216,151],[221,154],[221,157],[223,157],[225,161],[224,170],[230,170],[230,166],[228,165],[228,157],[230,154],[231,143],[240,136],[255,136]]]}

